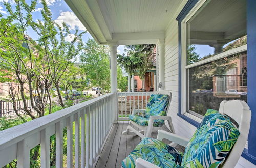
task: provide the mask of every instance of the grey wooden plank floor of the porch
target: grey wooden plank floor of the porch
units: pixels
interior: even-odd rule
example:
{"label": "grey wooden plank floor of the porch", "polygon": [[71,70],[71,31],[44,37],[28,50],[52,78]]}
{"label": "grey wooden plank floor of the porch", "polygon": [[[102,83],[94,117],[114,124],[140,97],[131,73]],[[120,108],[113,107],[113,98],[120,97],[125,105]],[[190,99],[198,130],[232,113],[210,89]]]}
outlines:
{"label": "grey wooden plank floor of the porch", "polygon": [[[139,136],[122,135],[127,128],[128,121],[119,121],[114,124],[109,134],[101,156],[96,164],[97,168],[102,167],[121,167],[122,160],[132,152],[139,144],[141,138]],[[165,128],[168,131],[167,128]],[[157,137],[157,131],[153,131],[153,138]],[[184,147],[177,145],[176,149],[184,152]]]}

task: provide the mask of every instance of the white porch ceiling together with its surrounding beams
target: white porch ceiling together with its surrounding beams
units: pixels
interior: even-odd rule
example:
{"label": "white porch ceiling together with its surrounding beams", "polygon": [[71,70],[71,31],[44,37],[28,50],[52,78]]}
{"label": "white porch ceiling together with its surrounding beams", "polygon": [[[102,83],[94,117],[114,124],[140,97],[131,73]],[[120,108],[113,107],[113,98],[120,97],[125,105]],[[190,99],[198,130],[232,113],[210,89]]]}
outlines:
{"label": "white porch ceiling together with its surrounding beams", "polygon": [[99,44],[152,44],[182,1],[177,0],[65,0]]}

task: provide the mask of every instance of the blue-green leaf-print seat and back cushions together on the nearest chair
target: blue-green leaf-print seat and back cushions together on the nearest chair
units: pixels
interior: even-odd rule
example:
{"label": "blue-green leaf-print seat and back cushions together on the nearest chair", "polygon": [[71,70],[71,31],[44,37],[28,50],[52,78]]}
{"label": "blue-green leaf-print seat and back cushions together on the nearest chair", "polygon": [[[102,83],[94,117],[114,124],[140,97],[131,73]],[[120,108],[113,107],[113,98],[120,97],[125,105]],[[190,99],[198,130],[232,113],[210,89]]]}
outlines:
{"label": "blue-green leaf-print seat and back cushions together on the nearest chair", "polygon": [[218,167],[239,135],[228,117],[208,109],[184,154],[157,139],[143,138],[123,160],[122,167],[135,167],[137,158],[159,167]]}

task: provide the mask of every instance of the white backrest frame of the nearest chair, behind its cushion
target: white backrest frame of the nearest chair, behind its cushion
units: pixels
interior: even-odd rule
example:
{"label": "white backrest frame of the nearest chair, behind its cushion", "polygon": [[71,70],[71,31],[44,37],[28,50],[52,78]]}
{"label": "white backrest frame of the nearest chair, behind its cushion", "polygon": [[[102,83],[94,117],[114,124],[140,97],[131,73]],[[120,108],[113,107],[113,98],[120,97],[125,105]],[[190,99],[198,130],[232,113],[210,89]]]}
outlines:
{"label": "white backrest frame of the nearest chair, behind its cushion", "polygon": [[227,158],[222,164],[222,167],[236,166],[246,144],[251,122],[251,110],[246,102],[241,100],[222,101],[219,112],[226,114],[239,125],[238,130],[240,135],[234,144],[232,150],[229,152]]}

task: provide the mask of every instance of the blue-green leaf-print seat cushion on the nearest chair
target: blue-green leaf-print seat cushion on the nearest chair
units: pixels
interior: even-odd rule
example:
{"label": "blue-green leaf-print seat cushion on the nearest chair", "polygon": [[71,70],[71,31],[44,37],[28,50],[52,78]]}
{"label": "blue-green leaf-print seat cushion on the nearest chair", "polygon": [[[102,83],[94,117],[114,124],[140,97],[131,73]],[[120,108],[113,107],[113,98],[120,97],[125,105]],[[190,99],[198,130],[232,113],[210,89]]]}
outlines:
{"label": "blue-green leaf-print seat cushion on the nearest chair", "polygon": [[162,141],[146,137],[122,161],[122,167],[135,167],[137,158],[142,158],[159,167],[180,167],[182,155],[181,152]]}

